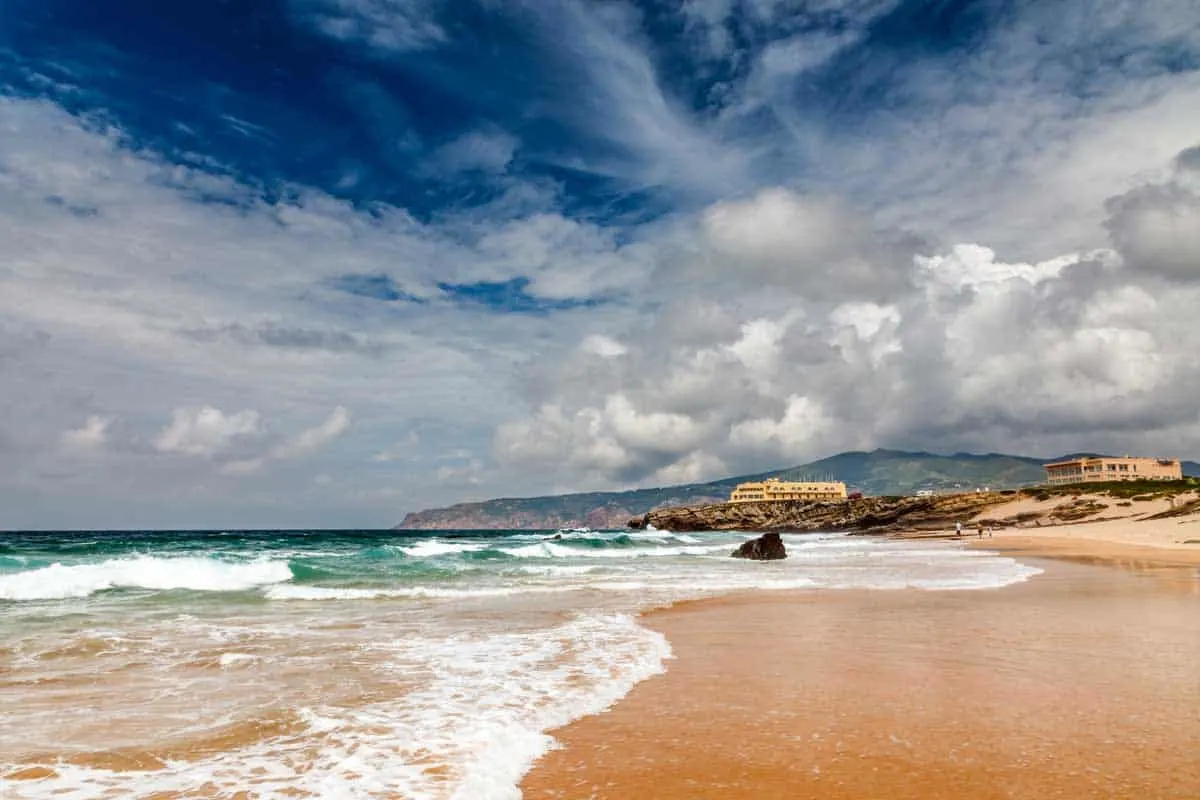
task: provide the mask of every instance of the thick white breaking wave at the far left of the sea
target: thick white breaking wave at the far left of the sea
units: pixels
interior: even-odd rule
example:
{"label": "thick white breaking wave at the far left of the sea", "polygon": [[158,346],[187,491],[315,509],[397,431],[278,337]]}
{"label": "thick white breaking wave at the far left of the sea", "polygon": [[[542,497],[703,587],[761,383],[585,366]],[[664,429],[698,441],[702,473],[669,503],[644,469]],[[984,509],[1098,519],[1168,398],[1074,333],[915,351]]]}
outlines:
{"label": "thick white breaking wave at the far left of the sea", "polygon": [[106,589],[239,591],[292,579],[284,561],[217,561],[138,555],[98,564],[52,564],[0,576],[0,600],[86,597]]}

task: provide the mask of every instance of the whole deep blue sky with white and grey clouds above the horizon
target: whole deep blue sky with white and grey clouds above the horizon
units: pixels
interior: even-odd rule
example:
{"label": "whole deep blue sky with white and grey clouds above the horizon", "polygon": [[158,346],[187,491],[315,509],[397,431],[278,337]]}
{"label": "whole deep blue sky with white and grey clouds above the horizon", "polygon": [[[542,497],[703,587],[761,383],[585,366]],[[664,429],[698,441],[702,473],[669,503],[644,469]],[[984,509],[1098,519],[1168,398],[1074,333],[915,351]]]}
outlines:
{"label": "whole deep blue sky with white and grey clouds above the horizon", "polygon": [[1194,0],[5,0],[0,529],[1200,457]]}

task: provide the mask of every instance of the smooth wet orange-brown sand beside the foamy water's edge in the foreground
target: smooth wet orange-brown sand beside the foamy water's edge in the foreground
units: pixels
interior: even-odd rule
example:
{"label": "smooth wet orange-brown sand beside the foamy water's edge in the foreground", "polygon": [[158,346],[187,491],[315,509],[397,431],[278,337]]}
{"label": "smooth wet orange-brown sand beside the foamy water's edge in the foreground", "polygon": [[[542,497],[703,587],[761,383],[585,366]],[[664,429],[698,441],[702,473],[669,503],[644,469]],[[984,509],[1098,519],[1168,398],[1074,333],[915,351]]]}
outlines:
{"label": "smooth wet orange-brown sand beside the foamy water's edge in the foreground", "polygon": [[667,673],[556,732],[524,796],[1200,798],[1200,573],[1022,560],[1000,590],[650,614]]}

